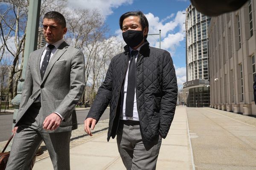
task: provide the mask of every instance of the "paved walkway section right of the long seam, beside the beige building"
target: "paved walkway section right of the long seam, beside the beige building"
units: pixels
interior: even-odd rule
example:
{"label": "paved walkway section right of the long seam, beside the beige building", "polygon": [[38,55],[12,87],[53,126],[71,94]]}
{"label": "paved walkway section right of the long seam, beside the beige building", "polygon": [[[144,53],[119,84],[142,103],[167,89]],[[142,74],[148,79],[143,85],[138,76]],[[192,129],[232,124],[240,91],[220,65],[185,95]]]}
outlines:
{"label": "paved walkway section right of the long seam, beside the beige building", "polygon": [[256,118],[187,108],[196,170],[256,170]]}

